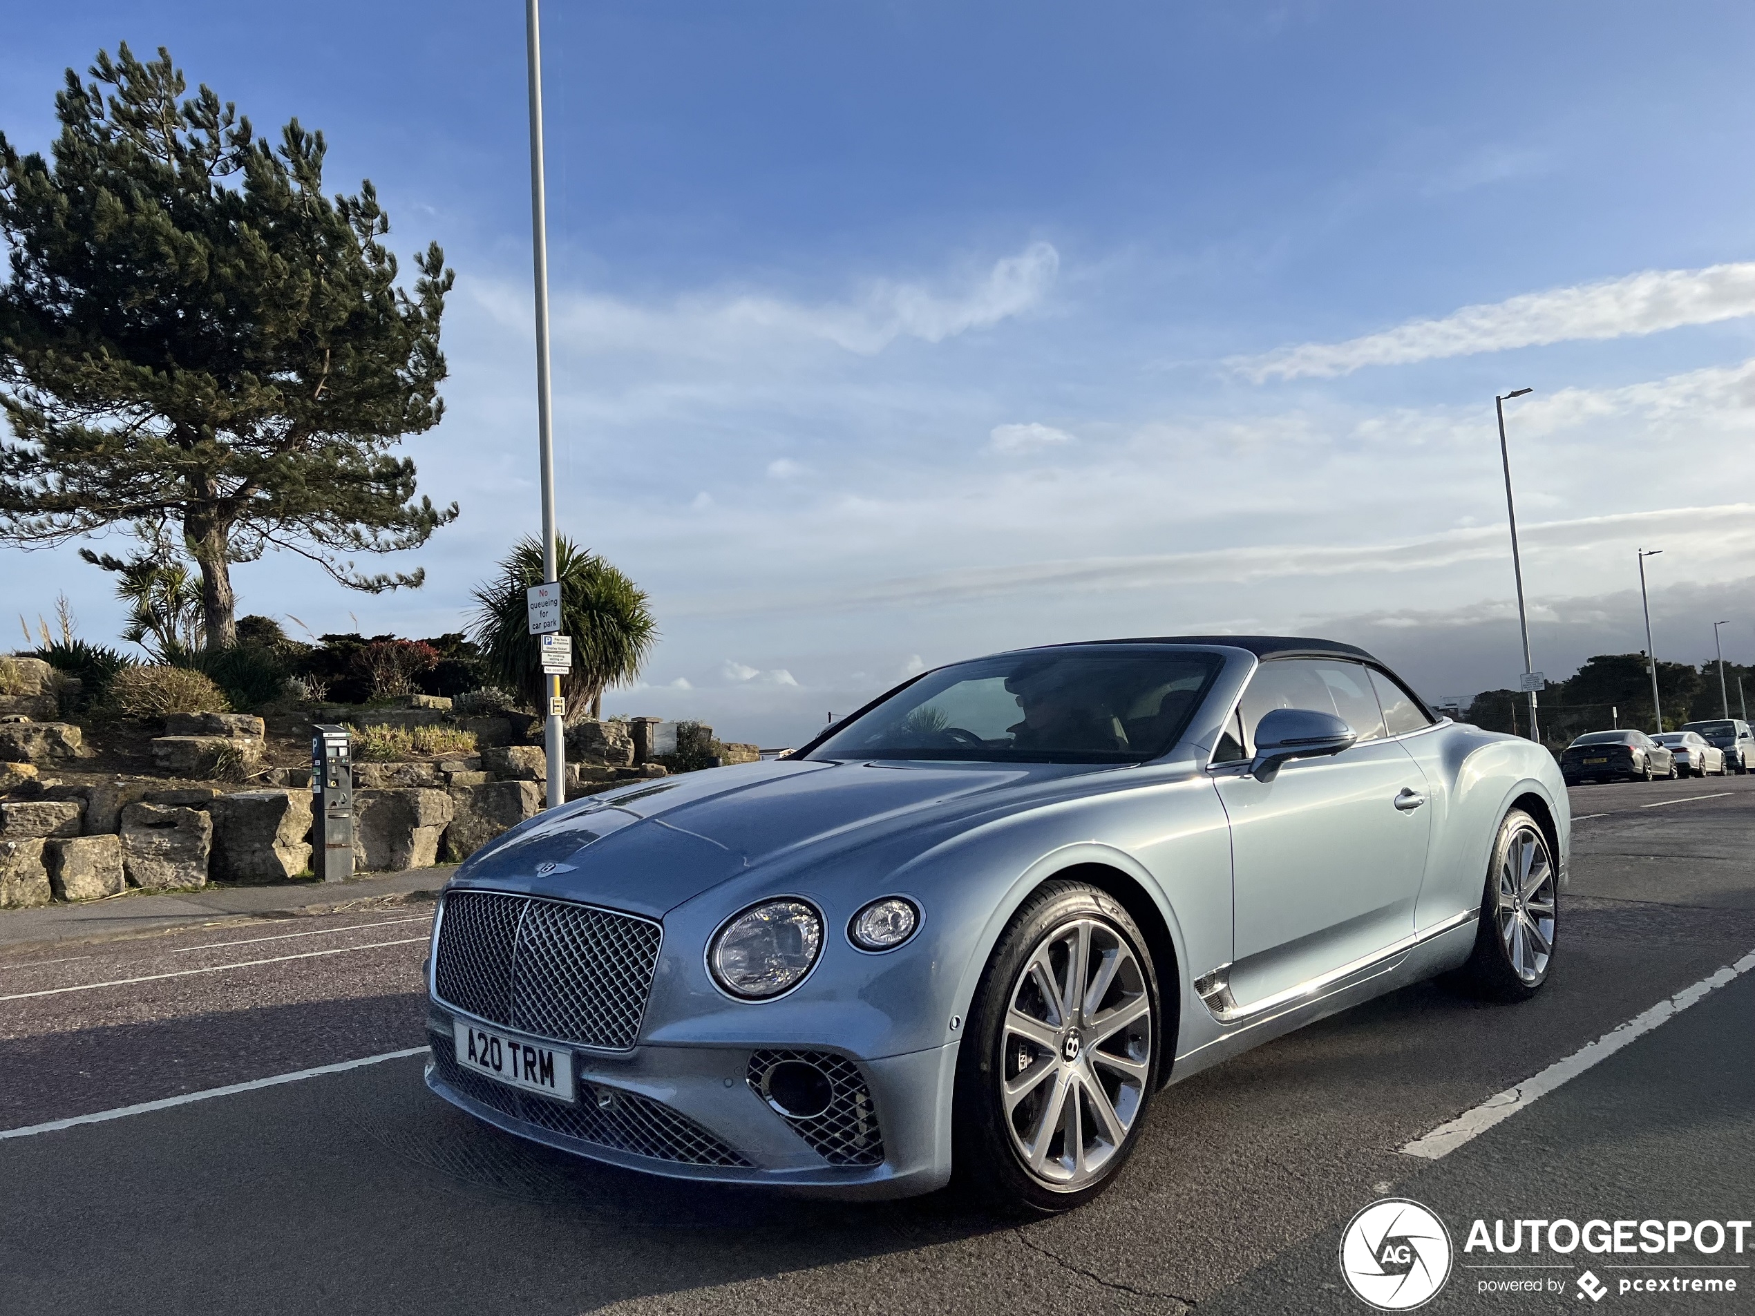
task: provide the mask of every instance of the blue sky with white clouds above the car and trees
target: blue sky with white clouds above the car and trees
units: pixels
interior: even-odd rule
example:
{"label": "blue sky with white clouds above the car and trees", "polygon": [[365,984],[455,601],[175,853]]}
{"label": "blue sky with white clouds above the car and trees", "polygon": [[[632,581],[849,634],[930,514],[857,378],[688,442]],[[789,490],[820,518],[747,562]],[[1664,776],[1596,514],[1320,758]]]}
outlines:
{"label": "blue sky with white clouds above the car and trees", "polygon": [[[1492,397],[1537,667],[1755,658],[1746,5],[551,4],[567,533],[663,628],[625,712],[797,742],[920,663],[1185,630],[1364,642],[1432,697],[1515,681]],[[455,630],[535,516],[516,4],[19,7],[0,126],[165,44],[330,139],[439,239],[462,519],[419,593],[240,567],[314,632]],[[74,600],[21,556],[7,611]]]}

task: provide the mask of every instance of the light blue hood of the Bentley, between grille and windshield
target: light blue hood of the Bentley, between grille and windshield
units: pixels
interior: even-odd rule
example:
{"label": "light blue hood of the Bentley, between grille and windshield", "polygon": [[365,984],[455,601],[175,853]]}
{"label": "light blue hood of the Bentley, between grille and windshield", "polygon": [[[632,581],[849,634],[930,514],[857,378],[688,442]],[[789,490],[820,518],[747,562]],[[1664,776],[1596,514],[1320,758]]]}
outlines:
{"label": "light blue hood of the Bentley, between grille and windshield", "polygon": [[1114,770],[777,760],[691,772],[541,814],[476,851],[455,881],[662,918],[758,865],[1055,797],[1067,777]]}

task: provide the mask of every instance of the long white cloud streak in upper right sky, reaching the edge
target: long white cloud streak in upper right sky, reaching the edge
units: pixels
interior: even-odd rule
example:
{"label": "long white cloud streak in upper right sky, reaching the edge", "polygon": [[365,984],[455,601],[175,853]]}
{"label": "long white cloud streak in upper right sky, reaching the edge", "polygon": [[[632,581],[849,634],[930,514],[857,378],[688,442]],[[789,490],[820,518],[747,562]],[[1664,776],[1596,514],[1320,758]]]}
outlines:
{"label": "long white cloud streak in upper right sky, reaching the edge", "polygon": [[1620,339],[1750,314],[1755,314],[1755,261],[1704,270],[1644,270],[1623,279],[1467,305],[1441,319],[1416,319],[1346,342],[1306,342],[1264,356],[1239,356],[1230,365],[1255,383],[1329,379],[1365,365],[1406,365],[1576,339]]}

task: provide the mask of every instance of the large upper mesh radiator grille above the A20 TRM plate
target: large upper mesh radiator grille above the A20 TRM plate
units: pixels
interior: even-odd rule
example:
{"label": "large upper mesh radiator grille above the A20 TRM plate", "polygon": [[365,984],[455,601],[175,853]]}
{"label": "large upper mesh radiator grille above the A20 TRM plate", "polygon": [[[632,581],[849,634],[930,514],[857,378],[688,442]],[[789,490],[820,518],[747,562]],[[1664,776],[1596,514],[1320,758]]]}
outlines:
{"label": "large upper mesh radiator grille above the A20 TRM plate", "polygon": [[607,909],[451,891],[433,991],[505,1028],[627,1051],[641,1032],[663,928]]}

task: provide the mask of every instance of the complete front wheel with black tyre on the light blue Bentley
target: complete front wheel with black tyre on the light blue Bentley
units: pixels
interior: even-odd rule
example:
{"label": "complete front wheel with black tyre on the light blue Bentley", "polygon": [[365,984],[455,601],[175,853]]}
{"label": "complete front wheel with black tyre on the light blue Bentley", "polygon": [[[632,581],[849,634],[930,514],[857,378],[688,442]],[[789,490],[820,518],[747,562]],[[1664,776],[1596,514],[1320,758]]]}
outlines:
{"label": "complete front wheel with black tyre on the light blue Bentley", "polygon": [[1025,1214],[1085,1205],[1132,1155],[1157,1088],[1158,981],[1104,891],[1055,881],[1013,916],[956,1062],[955,1177]]}

